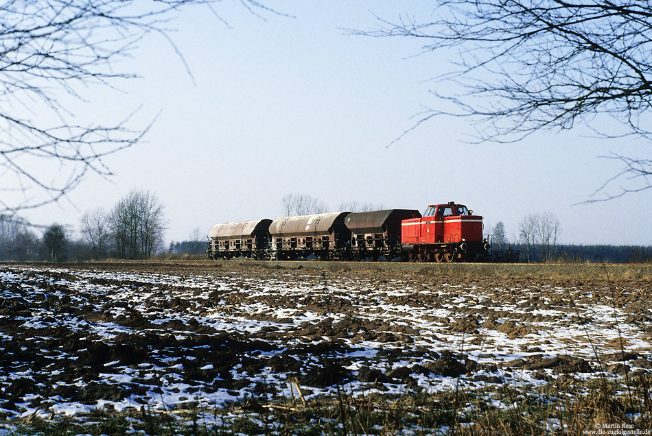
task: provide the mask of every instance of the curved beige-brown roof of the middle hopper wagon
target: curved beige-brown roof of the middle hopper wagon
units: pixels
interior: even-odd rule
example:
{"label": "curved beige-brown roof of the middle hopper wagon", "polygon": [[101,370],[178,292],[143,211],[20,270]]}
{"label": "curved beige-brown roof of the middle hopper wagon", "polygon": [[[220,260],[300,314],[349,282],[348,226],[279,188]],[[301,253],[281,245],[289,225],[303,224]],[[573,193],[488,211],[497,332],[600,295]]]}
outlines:
{"label": "curved beige-brown roof of the middle hopper wagon", "polygon": [[277,218],[270,224],[270,234],[273,237],[326,236],[338,225],[343,227],[344,218],[348,214],[349,212],[336,212]]}

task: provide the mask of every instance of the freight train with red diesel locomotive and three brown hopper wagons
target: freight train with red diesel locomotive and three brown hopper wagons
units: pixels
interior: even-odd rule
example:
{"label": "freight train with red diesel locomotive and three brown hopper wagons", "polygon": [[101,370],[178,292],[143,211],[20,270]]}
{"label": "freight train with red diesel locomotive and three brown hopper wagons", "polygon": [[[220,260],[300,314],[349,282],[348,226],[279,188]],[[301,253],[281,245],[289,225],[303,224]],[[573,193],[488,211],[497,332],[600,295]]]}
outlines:
{"label": "freight train with red diesel locomotive and three brown hopper wagons", "polygon": [[209,239],[209,258],[454,262],[481,260],[491,248],[482,217],[455,202],[428,206],[423,216],[388,209],[217,224]]}

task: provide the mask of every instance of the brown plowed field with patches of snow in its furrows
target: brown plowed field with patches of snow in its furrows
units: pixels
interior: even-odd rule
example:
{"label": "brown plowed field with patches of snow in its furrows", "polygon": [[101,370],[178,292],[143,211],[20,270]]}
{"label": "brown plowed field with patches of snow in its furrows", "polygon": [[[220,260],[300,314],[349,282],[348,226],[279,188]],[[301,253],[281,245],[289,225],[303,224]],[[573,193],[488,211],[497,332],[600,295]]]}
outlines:
{"label": "brown plowed field with patches of snow in its furrows", "polygon": [[652,369],[651,293],[292,264],[0,265],[0,415],[634,380]]}

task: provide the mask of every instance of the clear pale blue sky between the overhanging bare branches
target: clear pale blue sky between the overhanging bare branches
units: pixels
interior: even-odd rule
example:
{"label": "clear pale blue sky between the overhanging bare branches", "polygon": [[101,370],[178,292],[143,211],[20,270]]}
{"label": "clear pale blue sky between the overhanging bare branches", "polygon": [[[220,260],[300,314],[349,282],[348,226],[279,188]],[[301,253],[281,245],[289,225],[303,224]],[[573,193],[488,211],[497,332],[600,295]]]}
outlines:
{"label": "clear pale blue sky between the overhanging bare branches", "polygon": [[[78,228],[85,210],[108,209],[133,187],[165,203],[169,241],[206,234],[226,221],[283,215],[281,197],[307,193],[335,210],[341,202],[424,210],[456,201],[503,221],[508,237],[528,213],[555,213],[563,243],[652,245],[652,190],[573,206],[590,198],[620,166],[610,151],[649,157],[649,145],[587,137],[581,127],[542,132],[510,145],[468,145],[463,119],[435,119],[386,147],[423,107],[435,107],[429,79],[446,56],[419,53],[420,41],[350,36],[375,15],[429,14],[426,1],[265,2],[294,16],[249,14],[218,4],[174,21],[174,49],[145,38],[132,59],[140,80],[121,93],[97,92],[91,117],[122,117],[141,107],[143,125],[160,115],[143,143],[106,159],[109,181],[91,175],[59,204],[27,213],[36,223]],[[290,4],[288,4],[290,3]],[[451,55],[452,56],[452,55]],[[647,154],[646,154],[647,153]]]}

